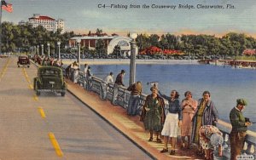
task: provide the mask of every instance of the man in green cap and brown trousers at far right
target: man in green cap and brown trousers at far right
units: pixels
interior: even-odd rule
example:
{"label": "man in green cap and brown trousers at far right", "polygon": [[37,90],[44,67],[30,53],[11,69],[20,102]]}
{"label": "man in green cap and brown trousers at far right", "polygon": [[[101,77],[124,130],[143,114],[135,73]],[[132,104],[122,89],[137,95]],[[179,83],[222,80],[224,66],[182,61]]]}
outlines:
{"label": "man in green cap and brown trousers at far right", "polygon": [[236,106],[230,111],[230,122],[232,125],[230,133],[231,160],[236,160],[236,157],[241,154],[245,136],[247,135],[247,126],[252,125],[242,115],[245,106],[247,106],[246,100],[237,99]]}

